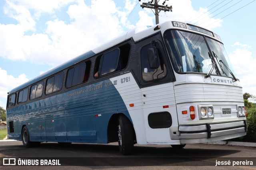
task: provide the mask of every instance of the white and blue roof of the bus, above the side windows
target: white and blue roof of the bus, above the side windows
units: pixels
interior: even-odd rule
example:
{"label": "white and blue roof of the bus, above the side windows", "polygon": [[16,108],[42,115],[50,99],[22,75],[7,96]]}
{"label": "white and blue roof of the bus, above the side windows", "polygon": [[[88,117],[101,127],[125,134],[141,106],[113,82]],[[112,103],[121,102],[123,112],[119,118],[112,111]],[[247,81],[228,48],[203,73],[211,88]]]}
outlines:
{"label": "white and blue roof of the bus, above the side windows", "polygon": [[[44,78],[46,77],[49,77],[57,72],[60,72],[61,70],[64,70],[65,68],[68,68],[80,61],[83,61],[97,53],[100,53],[110,47],[113,47],[114,45],[117,45],[127,39],[133,39],[134,41],[139,41],[140,39],[143,39],[149,35],[152,35],[160,30],[166,30],[166,29],[170,29],[170,28],[174,28],[173,26],[173,22],[174,21],[166,21],[164,23],[160,23],[158,25],[154,25],[154,26],[144,26],[144,27],[136,27],[134,29],[131,29],[130,31],[118,36],[118,37],[115,37],[114,39],[108,41],[107,43],[99,46],[99,47],[96,47],[95,49],[93,50],[90,50],[78,57],[75,57],[63,64],[60,64],[59,66],[56,66],[55,68],[52,68],[51,70],[43,73],[43,74],[40,74],[39,76],[37,76],[36,78],[33,78],[31,80],[29,80],[28,82],[10,90],[10,92],[8,94],[12,94],[14,92],[17,92],[19,90],[22,90],[23,88],[26,88],[27,86],[30,86],[32,84],[35,84],[36,82],[39,82],[40,80],[43,80]],[[179,23],[182,23],[182,22],[179,22]],[[191,24],[189,24],[191,25]],[[201,27],[198,27],[196,25],[192,25],[192,27],[196,27],[196,28],[199,28],[199,29],[204,29],[204,28],[201,28]],[[179,27],[179,29],[185,29],[185,28],[182,28],[182,27]],[[190,28],[186,28],[186,29],[190,29]],[[207,29],[204,29],[206,31],[209,31]],[[193,31],[193,32],[198,32],[198,29],[190,29],[190,31]],[[199,31],[201,33],[204,33],[202,31]],[[209,31],[211,32],[211,31]],[[220,41],[220,39],[218,38],[218,35],[216,35],[215,33],[211,32],[212,33],[212,37],[218,39]],[[204,33],[205,34],[205,33]]]}

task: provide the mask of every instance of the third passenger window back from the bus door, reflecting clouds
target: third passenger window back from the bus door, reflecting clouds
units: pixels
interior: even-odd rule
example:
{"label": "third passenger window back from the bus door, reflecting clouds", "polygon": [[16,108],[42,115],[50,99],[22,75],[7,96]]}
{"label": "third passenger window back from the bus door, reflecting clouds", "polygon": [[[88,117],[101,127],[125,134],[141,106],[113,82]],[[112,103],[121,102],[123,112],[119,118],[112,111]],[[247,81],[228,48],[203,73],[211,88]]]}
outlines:
{"label": "third passenger window back from the bus door, reflecting clouds", "polygon": [[62,88],[63,82],[63,72],[48,78],[46,81],[46,91],[45,94],[51,94],[53,92],[58,92]]}

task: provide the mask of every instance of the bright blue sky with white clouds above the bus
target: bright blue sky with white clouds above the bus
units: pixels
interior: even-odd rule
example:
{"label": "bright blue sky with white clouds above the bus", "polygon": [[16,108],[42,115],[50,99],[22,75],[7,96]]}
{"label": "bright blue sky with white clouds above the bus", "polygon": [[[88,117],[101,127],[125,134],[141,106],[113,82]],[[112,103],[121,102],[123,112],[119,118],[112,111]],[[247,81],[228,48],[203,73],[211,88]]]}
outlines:
{"label": "bright blue sky with white clouds above the bus", "polygon": [[[0,0],[0,106],[16,86],[134,28],[155,25],[146,0]],[[162,5],[164,0],[160,0]],[[160,23],[218,34],[243,93],[256,96],[256,0],[166,0]],[[165,5],[166,5],[165,4]]]}

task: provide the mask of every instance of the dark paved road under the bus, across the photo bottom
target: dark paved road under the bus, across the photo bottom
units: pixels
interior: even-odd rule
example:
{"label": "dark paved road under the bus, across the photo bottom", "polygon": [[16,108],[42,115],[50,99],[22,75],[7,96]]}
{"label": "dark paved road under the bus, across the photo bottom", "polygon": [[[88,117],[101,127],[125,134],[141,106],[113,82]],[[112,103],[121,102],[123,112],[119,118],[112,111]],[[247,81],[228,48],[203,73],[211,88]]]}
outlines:
{"label": "dark paved road under the bus, across the photo bottom", "polygon": [[[3,158],[59,160],[62,166],[1,166]],[[216,160],[230,160],[230,166],[220,169],[256,169],[246,164],[256,164],[256,148],[226,145],[186,145],[175,150],[168,145],[135,145],[134,154],[122,156],[117,143],[108,145],[80,144],[59,145],[42,143],[40,147],[24,148],[20,141],[0,142],[0,170],[8,169],[205,169],[216,168]],[[247,160],[247,161],[246,161]],[[244,161],[245,166],[232,167],[233,161]],[[252,162],[251,162],[252,161]],[[17,162],[17,161],[16,161]],[[39,163],[40,164],[40,163]],[[240,163],[242,165],[242,162]],[[76,165],[76,166],[74,166]],[[150,166],[150,168],[148,168]],[[73,169],[72,168],[72,169]]]}

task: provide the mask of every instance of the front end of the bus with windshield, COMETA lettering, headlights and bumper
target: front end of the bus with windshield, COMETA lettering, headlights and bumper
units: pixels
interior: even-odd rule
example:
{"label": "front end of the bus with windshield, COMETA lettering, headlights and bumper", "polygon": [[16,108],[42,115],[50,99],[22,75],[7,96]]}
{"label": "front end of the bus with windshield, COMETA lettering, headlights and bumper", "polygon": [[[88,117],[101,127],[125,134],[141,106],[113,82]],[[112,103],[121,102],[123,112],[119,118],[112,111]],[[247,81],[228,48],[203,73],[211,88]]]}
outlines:
{"label": "front end of the bus with windshield, COMETA lettering, headlights and bumper", "polygon": [[179,128],[170,131],[173,139],[205,143],[246,135],[242,87],[221,41],[202,28],[172,25],[164,41],[176,78]]}

